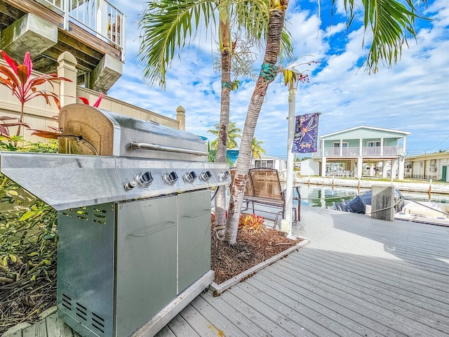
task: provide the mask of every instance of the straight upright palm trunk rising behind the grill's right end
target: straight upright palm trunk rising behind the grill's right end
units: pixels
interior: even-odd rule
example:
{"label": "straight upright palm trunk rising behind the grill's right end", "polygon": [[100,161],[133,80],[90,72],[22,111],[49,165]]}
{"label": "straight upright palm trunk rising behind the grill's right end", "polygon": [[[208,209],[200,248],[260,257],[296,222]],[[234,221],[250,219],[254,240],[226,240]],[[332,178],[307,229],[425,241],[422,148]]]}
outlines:
{"label": "straight upright palm trunk rising behind the grill's right end", "polygon": [[[218,135],[215,161],[226,162],[227,130],[229,127],[229,96],[231,92],[231,36],[229,8],[220,11],[220,51],[222,61],[222,97],[220,107],[220,133]],[[215,195],[215,225],[226,223],[226,186],[217,187]]]}

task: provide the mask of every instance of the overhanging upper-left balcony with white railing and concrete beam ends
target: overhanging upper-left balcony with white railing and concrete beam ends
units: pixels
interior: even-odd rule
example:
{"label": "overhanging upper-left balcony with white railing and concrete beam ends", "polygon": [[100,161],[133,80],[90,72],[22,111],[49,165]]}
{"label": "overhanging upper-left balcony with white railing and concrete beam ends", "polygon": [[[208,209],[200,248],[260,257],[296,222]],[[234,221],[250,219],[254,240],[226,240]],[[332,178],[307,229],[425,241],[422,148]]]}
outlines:
{"label": "overhanging upper-left balcony with white railing and concrete beam ends", "polygon": [[77,84],[107,92],[125,60],[125,19],[107,0],[0,0],[0,48],[20,61],[29,51],[34,70],[44,74],[57,72],[68,51]]}

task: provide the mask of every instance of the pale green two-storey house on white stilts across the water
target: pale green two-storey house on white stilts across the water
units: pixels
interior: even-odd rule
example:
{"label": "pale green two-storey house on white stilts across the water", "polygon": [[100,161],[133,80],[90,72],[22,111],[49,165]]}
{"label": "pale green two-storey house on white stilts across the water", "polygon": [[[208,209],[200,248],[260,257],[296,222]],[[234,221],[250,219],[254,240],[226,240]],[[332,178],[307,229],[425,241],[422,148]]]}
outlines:
{"label": "pale green two-storey house on white stilts across the water", "polygon": [[410,132],[357,126],[319,137],[312,159],[320,161],[320,175],[404,178],[406,137]]}

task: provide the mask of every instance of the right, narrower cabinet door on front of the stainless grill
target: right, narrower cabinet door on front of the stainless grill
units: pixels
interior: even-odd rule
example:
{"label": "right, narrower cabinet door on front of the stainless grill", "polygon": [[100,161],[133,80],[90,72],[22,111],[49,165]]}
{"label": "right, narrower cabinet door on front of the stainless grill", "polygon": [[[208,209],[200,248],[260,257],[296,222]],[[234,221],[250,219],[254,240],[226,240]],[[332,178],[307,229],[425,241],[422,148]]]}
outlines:
{"label": "right, narrower cabinet door on front of the stainless grill", "polygon": [[210,270],[210,190],[178,194],[178,293]]}

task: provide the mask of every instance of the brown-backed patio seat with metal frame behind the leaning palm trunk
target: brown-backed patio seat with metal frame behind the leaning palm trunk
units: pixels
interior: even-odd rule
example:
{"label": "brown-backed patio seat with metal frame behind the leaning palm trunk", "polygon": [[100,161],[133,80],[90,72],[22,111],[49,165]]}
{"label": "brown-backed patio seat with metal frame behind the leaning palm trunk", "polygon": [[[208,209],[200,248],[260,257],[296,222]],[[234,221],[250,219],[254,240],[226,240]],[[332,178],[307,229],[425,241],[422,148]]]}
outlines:
{"label": "brown-backed patio seat with metal frame behind the leaning palm trunk", "polygon": [[[232,181],[234,182],[235,170],[231,169]],[[293,187],[293,200],[297,201],[297,206],[293,205],[293,223],[301,220],[301,194],[300,187]],[[269,206],[269,210],[263,210],[264,213],[275,214],[274,226],[286,213],[286,190],[281,188],[281,180],[276,169],[250,169],[248,180],[243,194],[242,211],[252,209],[255,213],[256,205]],[[274,210],[271,210],[274,209]]]}

